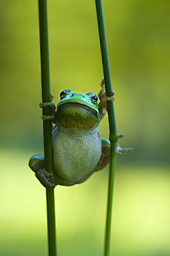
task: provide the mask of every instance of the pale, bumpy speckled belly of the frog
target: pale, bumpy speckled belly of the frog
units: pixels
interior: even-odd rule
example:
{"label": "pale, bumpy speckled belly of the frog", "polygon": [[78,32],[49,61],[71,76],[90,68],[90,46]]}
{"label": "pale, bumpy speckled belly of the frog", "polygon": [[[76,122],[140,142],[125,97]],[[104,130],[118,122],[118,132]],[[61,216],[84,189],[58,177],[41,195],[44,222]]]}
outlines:
{"label": "pale, bumpy speckled belly of the frog", "polygon": [[[89,134],[76,136],[56,126],[52,132],[52,144],[54,171],[65,180],[64,185],[74,185],[86,180],[95,171],[101,158],[101,136],[98,128]],[[59,182],[58,178],[56,182]]]}

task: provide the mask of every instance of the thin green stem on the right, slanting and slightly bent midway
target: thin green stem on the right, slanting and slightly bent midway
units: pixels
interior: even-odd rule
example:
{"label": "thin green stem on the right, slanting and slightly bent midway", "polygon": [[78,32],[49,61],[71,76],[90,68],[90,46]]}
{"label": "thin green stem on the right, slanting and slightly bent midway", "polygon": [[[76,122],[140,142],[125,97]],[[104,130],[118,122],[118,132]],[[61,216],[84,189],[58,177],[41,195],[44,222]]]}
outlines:
{"label": "thin green stem on the right, slanting and slightly bent midway", "polygon": [[[106,96],[111,96],[111,75],[108,64],[108,50],[106,45],[106,33],[103,20],[103,11],[101,0],[96,0],[96,12],[98,19],[98,31],[101,43],[101,56],[103,62],[103,73],[106,82]],[[113,202],[113,183],[115,176],[115,143],[118,140],[118,134],[115,126],[115,114],[113,108],[113,102],[108,101],[108,121],[110,129],[110,141],[111,141],[111,153],[109,161],[109,176],[108,176],[108,207],[106,214],[106,233],[105,233],[105,249],[104,255],[109,255],[110,240],[111,240],[111,214],[112,214],[112,202]]]}

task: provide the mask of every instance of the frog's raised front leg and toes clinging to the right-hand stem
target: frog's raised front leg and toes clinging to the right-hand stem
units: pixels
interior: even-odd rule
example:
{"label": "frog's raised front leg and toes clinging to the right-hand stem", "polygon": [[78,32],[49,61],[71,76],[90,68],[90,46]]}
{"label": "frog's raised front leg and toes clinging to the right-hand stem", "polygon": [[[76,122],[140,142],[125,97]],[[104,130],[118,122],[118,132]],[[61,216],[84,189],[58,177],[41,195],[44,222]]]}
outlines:
{"label": "frog's raised front leg and toes clinging to the right-hand stem", "polygon": [[99,112],[101,114],[101,119],[108,112],[107,101],[108,100],[111,100],[111,101],[115,100],[115,97],[113,97],[114,94],[115,94],[115,91],[111,90],[111,96],[106,97],[105,80],[103,79],[101,81],[101,91],[98,93],[98,97],[101,100],[101,102],[98,105]]}

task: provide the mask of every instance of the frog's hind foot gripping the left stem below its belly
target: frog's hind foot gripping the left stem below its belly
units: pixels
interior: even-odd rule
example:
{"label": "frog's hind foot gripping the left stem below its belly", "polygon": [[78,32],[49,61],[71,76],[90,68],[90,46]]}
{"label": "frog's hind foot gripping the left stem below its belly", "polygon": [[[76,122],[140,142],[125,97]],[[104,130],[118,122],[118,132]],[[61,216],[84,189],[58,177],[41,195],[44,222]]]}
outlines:
{"label": "frog's hind foot gripping the left stem below its belly", "polygon": [[38,171],[35,172],[35,176],[38,178],[40,183],[45,186],[45,188],[55,188],[55,183],[53,183],[54,174],[45,171],[45,169],[38,169]]}

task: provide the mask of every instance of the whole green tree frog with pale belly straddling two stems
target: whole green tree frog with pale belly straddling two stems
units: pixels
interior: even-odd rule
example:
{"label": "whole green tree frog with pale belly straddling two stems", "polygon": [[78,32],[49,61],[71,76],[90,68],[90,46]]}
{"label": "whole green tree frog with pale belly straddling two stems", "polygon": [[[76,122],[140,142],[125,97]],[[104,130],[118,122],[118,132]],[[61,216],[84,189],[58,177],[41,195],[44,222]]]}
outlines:
{"label": "whole green tree frog with pale belly straddling two stems", "polygon": [[[64,89],[60,93],[57,110],[52,102],[40,103],[51,107],[50,116],[42,116],[43,122],[52,119],[53,174],[45,170],[44,155],[31,156],[30,169],[46,188],[73,186],[86,181],[94,172],[104,169],[109,162],[111,143],[101,139],[98,125],[108,112],[107,101],[115,100],[115,92],[106,97],[105,81],[101,82],[98,97],[94,92],[80,94]],[[98,98],[100,102],[98,103]],[[115,154],[120,155],[131,148],[122,149],[118,135]]]}

